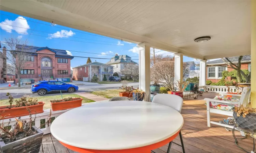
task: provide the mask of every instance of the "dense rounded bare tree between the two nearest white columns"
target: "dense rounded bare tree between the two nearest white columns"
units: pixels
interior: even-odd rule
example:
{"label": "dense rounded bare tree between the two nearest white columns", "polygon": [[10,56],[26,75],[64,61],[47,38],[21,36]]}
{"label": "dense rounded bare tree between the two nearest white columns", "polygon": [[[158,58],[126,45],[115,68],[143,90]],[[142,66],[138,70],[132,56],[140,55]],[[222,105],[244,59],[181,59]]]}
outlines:
{"label": "dense rounded bare tree between the two nearest white columns", "polygon": [[162,83],[174,90],[174,61],[162,61],[151,68],[151,80]]}

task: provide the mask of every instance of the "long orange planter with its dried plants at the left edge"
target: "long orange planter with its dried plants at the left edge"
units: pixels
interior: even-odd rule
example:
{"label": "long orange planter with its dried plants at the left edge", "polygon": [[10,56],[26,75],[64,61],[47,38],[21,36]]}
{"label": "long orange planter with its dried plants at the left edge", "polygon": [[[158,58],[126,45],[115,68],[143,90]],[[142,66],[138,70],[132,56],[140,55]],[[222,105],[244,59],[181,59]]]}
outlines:
{"label": "long orange planter with its dried plants at the left edge", "polygon": [[27,108],[31,110],[31,114],[44,112],[44,102],[37,102],[36,98],[31,98],[25,95],[19,100],[15,100],[15,105],[13,105],[14,100],[11,94],[8,92],[6,96],[9,96],[10,105],[0,107],[0,114],[5,119],[29,115]]}

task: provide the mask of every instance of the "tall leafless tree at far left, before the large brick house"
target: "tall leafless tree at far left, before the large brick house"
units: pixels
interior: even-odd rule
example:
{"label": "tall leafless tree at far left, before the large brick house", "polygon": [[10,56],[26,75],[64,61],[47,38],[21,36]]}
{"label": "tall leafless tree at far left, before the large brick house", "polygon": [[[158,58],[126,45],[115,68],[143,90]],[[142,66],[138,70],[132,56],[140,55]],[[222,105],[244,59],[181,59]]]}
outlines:
{"label": "tall leafless tree at far left, before the large brick house", "polygon": [[28,41],[21,41],[18,38],[12,37],[9,39],[5,38],[5,44],[7,48],[7,58],[8,63],[15,66],[16,74],[18,77],[19,87],[20,87],[20,71],[25,67],[27,57],[30,56],[29,53],[26,52],[24,46],[20,46],[20,48],[16,48],[16,45],[27,45]]}

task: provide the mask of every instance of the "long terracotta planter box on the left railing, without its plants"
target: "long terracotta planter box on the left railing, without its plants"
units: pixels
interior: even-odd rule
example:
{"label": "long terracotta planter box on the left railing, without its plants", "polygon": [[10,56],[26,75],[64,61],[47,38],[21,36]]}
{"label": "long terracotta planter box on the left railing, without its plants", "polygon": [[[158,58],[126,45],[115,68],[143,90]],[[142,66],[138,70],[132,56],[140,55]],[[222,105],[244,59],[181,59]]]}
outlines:
{"label": "long terracotta planter box on the left railing, without its plants", "polygon": [[[0,107],[0,114],[2,119],[13,118],[13,117],[20,117],[29,115],[27,107],[30,109],[31,114],[39,114],[44,112],[44,102],[38,102],[38,105],[31,105],[31,106],[23,106],[23,107],[14,107],[14,108],[6,108],[8,106],[1,106]],[[4,112],[3,112],[4,111]]]}

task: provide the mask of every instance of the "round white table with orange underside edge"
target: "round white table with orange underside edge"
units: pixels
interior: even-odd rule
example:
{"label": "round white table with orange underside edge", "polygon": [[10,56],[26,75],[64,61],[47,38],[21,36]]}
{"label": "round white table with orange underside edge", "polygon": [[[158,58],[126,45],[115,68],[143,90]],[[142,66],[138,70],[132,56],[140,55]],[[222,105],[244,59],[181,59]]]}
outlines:
{"label": "round white table with orange underside edge", "polygon": [[[52,135],[85,153],[149,153],[172,141],[183,125],[175,109],[145,101],[93,102],[61,114]],[[159,146],[160,145],[160,146]]]}

